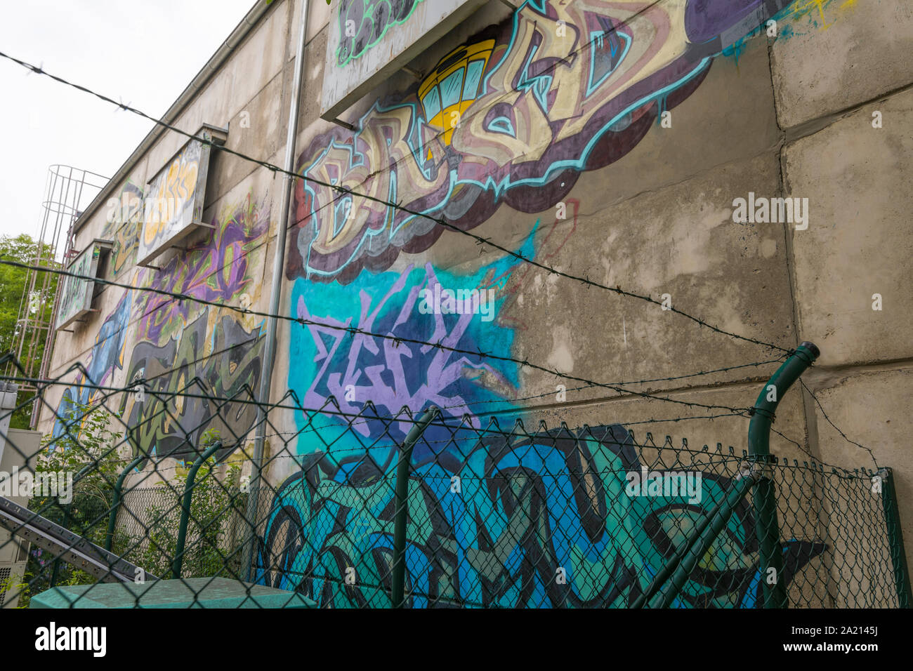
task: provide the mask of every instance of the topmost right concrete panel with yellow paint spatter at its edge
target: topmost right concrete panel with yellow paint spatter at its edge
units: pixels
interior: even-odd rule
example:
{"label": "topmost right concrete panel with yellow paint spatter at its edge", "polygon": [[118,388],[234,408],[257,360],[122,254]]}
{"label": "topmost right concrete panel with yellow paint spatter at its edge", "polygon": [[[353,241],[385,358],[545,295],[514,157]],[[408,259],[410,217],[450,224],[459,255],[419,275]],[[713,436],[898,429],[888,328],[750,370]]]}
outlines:
{"label": "topmost right concrete panel with yellow paint spatter at its edge", "polygon": [[794,36],[776,40],[771,49],[777,116],[783,128],[845,110],[913,81],[913,4],[832,2],[811,18],[818,26],[804,26],[801,20]]}

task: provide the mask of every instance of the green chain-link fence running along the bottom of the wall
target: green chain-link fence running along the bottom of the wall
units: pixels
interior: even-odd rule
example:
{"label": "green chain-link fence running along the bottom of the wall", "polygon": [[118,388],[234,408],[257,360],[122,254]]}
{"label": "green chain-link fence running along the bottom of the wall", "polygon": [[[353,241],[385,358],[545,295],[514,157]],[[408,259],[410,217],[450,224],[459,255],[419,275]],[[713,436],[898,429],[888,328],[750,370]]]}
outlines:
{"label": "green chain-link fence running along the bottom of the wall", "polygon": [[[31,544],[7,602],[170,579],[198,605],[222,580],[337,608],[749,608],[772,581],[791,607],[909,605],[887,470],[764,464],[624,425],[257,404],[194,381],[97,387],[61,409],[53,386],[37,396],[56,416],[40,449],[3,436],[34,473],[27,506],[11,478],[0,490],[2,527]],[[774,575],[756,500],[770,482]]]}

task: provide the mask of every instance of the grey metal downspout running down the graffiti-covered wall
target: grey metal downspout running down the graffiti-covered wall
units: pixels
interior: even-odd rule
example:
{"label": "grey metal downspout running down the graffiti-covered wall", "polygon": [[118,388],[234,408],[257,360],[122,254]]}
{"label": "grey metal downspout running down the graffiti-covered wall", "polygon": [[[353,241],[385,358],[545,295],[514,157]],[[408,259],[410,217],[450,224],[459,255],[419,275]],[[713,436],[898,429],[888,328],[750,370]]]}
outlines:
{"label": "grey metal downspout running down the graffiti-covered wall", "polygon": [[[291,215],[291,196],[295,179],[290,173],[295,170],[295,140],[298,137],[298,117],[301,100],[301,82],[304,79],[304,49],[308,41],[308,9],[309,0],[302,0],[301,26],[298,38],[298,51],[295,54],[295,79],[292,83],[291,103],[289,105],[289,133],[286,136],[285,173],[282,177],[285,185],[282,190],[282,204],[279,207],[278,231],[276,232],[276,254],[273,257],[273,283],[269,294],[270,315],[279,311],[279,299],[282,296],[282,274],[285,263],[286,232],[289,230]],[[243,553],[247,573],[250,580],[254,559],[254,539],[257,532],[257,504],[259,502],[260,477],[263,469],[263,448],[267,435],[267,413],[263,404],[269,403],[269,390],[273,382],[273,366],[276,363],[276,341],[278,320],[276,317],[267,318],[267,346],[263,357],[263,367],[260,369],[260,389],[257,393],[257,429],[254,437],[254,455],[250,478],[250,493],[247,498],[247,540]]]}

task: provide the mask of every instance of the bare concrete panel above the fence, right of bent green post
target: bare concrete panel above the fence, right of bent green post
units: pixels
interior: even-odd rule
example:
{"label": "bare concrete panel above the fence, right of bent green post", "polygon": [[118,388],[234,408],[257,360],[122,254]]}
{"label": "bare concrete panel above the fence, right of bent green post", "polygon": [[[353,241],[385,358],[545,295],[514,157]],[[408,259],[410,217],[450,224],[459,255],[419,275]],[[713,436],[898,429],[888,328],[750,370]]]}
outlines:
{"label": "bare concrete panel above the fence, right of bent green post", "polygon": [[[909,448],[913,369],[855,374],[815,395],[848,438],[871,449],[879,466],[894,469],[904,546],[908,559],[913,557],[913,464]],[[815,414],[824,461],[844,467],[874,467],[868,453],[837,433],[820,408],[815,407]]]}

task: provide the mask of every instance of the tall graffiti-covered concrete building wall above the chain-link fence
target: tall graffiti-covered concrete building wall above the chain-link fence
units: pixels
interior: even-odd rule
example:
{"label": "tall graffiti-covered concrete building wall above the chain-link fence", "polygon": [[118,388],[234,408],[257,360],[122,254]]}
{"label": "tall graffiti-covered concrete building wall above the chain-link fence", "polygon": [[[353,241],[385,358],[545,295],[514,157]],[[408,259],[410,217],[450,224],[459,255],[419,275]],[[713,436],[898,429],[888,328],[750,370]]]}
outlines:
{"label": "tall graffiti-covered concrete building wall above the chain-link fence", "polygon": [[[227,126],[229,147],[281,164],[299,7],[274,4],[177,125]],[[869,452],[846,438],[869,448],[879,466],[894,468],[913,552],[913,461],[901,447],[913,356],[906,337],[913,299],[904,286],[913,240],[913,76],[904,67],[913,10],[897,0],[783,4],[776,37],[733,41],[743,14],[736,2],[717,3],[713,20],[689,15],[684,0],[640,13],[639,2],[530,2],[516,13],[491,2],[410,64],[421,80],[400,72],[343,114],[356,129],[350,131],[320,120],[335,26],[326,5],[312,3],[297,143],[299,171],[309,179],[296,184],[284,313],[329,327],[446,340],[551,372],[416,345],[393,349],[389,341],[286,322],[271,397],[294,390],[313,408],[335,396],[352,413],[369,401],[389,414],[437,404],[477,426],[497,410],[507,425],[522,414],[530,428],[540,419],[550,426],[630,424],[638,437],[669,433],[698,449],[746,446],[748,418],[727,408],[753,403],[777,364],[743,364],[771,361],[775,352],[656,303],[587,288],[501,251],[507,249],[609,287],[657,300],[667,294],[675,309],[720,330],[783,348],[816,342],[823,355],[803,378],[810,391],[795,389],[784,400],[776,424],[782,436],[772,437],[771,448],[799,464],[872,468]],[[588,46],[591,35],[611,26],[611,38]],[[719,54],[714,44],[727,48]],[[484,75],[435,115],[420,92],[451,74],[456,65],[436,64],[461,46],[469,47],[464,67],[478,59]],[[449,125],[455,111],[457,127]],[[121,185],[124,192],[161,169],[181,143],[166,134]],[[321,182],[443,217],[490,244],[366,198],[347,204]],[[96,212],[79,243],[113,236],[110,277],[121,281],[265,310],[281,183],[279,175],[219,155],[205,210],[215,231],[166,258],[162,271],[133,266],[137,217],[106,222]],[[737,199],[750,197],[807,202],[807,228],[802,221],[741,220]],[[437,284],[490,289],[493,319],[424,314],[418,290]],[[880,310],[872,309],[874,294],[882,297]],[[102,289],[97,303],[96,317],[58,335],[52,374],[84,362],[99,384],[143,376],[167,392],[195,374],[220,395],[246,383],[257,389],[259,318],[117,288]],[[680,377],[718,369],[729,370]],[[613,390],[580,380],[651,382]],[[85,387],[66,393],[99,398]],[[187,448],[173,423],[143,421],[154,404],[141,407],[126,396],[118,403],[127,424],[142,424],[144,444],[171,457],[163,466],[183,458]],[[241,406],[232,411],[222,428],[243,434],[253,417]],[[190,426],[211,412],[199,401],[173,409]],[[315,444],[307,435],[288,437],[306,427],[303,415],[276,414],[282,430],[270,436],[270,454],[285,457],[271,463],[268,477],[278,484]],[[729,416],[687,419],[711,414]],[[635,425],[646,420],[656,423]],[[50,430],[52,418],[43,422]],[[373,430],[364,427],[362,439],[377,438]],[[857,490],[866,490],[860,483]],[[609,496],[610,483],[604,486]],[[841,533],[828,528],[836,522],[820,505],[825,487],[811,477],[791,492],[796,505],[784,514],[784,529],[801,531],[796,540]],[[832,555],[835,549],[831,542]],[[750,548],[736,554],[733,561],[746,570],[756,561]],[[822,578],[840,579],[826,554],[809,550],[795,571],[820,580],[792,589],[814,603],[843,604]],[[719,599],[745,603],[743,595]]]}

